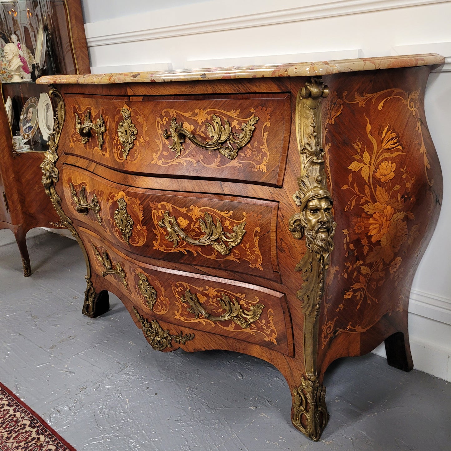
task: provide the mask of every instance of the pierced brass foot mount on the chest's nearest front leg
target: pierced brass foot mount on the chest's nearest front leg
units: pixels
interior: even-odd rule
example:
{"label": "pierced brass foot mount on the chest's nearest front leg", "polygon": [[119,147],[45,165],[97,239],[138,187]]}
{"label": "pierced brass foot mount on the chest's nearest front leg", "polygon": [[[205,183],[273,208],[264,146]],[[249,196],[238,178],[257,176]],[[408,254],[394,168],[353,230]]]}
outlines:
{"label": "pierced brass foot mount on the chest's nearest front leg", "polygon": [[301,385],[292,390],[291,396],[291,422],[307,437],[318,442],[329,420],[326,387],[317,376],[301,377]]}

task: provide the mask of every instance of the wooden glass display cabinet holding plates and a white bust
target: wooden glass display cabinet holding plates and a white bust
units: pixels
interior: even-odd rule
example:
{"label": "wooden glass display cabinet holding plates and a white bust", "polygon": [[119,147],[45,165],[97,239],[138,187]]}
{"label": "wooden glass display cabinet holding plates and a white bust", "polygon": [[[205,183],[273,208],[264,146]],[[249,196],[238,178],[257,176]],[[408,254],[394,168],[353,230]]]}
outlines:
{"label": "wooden glass display cabinet holding plates and a white bust", "polygon": [[42,192],[42,152],[55,104],[41,75],[89,74],[79,0],[0,2],[0,229],[16,238],[24,276],[31,273],[25,235],[34,227],[64,227]]}

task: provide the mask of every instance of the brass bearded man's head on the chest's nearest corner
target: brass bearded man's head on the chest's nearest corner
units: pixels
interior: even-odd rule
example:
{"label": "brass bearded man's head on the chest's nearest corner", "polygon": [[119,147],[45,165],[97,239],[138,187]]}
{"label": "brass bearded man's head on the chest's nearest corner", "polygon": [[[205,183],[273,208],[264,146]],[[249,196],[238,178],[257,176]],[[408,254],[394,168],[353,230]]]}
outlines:
{"label": "brass bearded man's head on the chest's nearest corner", "polygon": [[327,189],[315,186],[306,191],[302,198],[299,192],[295,201],[300,206],[300,213],[290,226],[296,238],[305,234],[307,249],[315,253],[318,261],[322,260],[325,269],[329,266],[329,256],[334,249],[333,236],[336,222],[332,216],[333,201]]}

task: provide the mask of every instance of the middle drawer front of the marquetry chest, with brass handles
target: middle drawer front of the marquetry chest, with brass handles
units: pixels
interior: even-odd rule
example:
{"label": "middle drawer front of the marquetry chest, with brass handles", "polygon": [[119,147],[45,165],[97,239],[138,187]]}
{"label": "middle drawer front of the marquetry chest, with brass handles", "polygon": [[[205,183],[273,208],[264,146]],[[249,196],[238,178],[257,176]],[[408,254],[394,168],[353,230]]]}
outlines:
{"label": "middle drawer front of the marquetry chest, with brass handles", "polygon": [[67,165],[63,183],[69,216],[129,252],[280,281],[277,202],[131,188]]}

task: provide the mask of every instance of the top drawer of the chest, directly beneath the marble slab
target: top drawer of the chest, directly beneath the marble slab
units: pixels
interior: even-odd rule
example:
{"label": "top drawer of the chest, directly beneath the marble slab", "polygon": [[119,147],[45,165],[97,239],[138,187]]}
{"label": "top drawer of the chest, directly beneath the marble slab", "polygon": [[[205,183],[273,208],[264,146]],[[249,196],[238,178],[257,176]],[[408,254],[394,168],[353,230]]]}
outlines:
{"label": "top drawer of the chest, directly beneath the marble slab", "polygon": [[68,154],[140,174],[282,185],[291,125],[288,93],[70,94],[66,111],[74,123],[65,128],[72,130]]}

